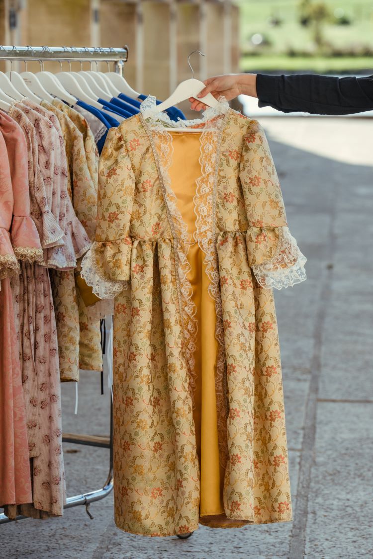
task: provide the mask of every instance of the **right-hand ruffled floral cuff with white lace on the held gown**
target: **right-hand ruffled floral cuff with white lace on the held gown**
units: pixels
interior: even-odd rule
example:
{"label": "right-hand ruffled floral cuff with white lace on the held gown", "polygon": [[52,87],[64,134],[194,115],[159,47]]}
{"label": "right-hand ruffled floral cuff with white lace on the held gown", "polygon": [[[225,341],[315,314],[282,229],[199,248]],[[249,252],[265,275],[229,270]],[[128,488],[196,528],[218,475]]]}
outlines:
{"label": "right-hand ruffled floral cuff with white lace on the held gown", "polygon": [[289,228],[251,228],[247,235],[249,265],[266,289],[290,287],[306,280],[306,257]]}

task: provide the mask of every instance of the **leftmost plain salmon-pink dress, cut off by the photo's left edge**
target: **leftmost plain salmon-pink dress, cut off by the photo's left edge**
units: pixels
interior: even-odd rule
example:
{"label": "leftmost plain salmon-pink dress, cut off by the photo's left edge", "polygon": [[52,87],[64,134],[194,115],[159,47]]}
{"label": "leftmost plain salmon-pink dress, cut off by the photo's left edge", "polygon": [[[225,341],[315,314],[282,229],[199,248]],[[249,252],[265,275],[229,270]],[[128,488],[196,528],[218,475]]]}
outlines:
{"label": "leftmost plain salmon-pink dress, cut off by the photo's left edge", "polygon": [[19,269],[9,234],[12,212],[11,173],[6,143],[0,133],[0,506],[28,503],[32,498],[26,412],[9,280]]}

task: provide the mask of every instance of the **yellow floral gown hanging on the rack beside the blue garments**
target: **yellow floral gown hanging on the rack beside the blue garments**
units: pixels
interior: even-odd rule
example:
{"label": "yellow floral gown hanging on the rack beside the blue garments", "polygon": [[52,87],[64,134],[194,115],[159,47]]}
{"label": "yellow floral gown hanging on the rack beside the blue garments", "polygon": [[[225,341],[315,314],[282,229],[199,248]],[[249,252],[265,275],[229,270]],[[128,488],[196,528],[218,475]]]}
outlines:
{"label": "yellow floral gown hanging on the rack beside the blue garments", "polygon": [[[68,193],[75,213],[93,238],[97,212],[98,151],[86,120],[71,107],[53,100],[41,105],[55,113],[62,129],[68,163]],[[100,321],[91,320],[83,302],[75,270],[51,272],[58,330],[61,381],[79,381],[79,368],[101,371]]]}

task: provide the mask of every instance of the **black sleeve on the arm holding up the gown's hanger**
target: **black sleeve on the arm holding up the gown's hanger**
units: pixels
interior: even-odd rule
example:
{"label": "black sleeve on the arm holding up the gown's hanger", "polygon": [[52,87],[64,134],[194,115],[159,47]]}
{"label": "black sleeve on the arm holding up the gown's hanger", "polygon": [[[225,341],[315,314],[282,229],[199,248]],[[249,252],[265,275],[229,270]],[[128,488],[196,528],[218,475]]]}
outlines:
{"label": "black sleeve on the arm holding up the gown's hanger", "polygon": [[373,75],[336,78],[317,74],[257,74],[259,107],[313,115],[349,115],[373,110]]}

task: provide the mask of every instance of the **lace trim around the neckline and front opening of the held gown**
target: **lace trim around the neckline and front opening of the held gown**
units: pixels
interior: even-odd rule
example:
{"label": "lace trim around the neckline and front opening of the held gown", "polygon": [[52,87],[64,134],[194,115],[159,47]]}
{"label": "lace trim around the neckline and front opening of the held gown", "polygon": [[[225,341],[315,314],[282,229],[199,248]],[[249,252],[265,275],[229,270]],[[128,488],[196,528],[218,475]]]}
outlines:
{"label": "lace trim around the neckline and front opening of the held gown", "polygon": [[[177,207],[177,198],[171,188],[169,167],[172,161],[173,145],[172,135],[167,131],[168,127],[191,127],[208,122],[209,129],[202,129],[200,136],[200,159],[201,176],[197,179],[197,188],[193,197],[194,211],[196,214],[196,231],[193,235],[195,241],[205,254],[204,263],[206,273],[210,279],[208,287],[210,296],[215,300],[216,328],[215,337],[218,340],[218,359],[216,364],[215,391],[218,416],[219,432],[219,456],[223,467],[228,459],[228,447],[226,443],[226,417],[228,405],[226,402],[225,385],[225,344],[223,309],[220,297],[220,278],[218,268],[218,252],[215,244],[215,203],[216,183],[218,181],[219,146],[221,134],[224,130],[229,116],[229,105],[224,98],[220,98],[217,108],[207,108],[202,119],[182,120],[174,122],[166,113],[160,112],[155,105],[155,97],[149,96],[140,106],[140,120],[148,131],[150,144],[152,145],[155,163],[157,165],[160,184],[162,186],[164,200],[171,226],[174,247],[177,250],[176,260],[176,282],[178,288],[179,311],[183,327],[184,347],[188,374],[190,378],[190,394],[195,408],[194,394],[196,387],[195,350],[198,324],[195,318],[197,309],[192,300],[193,288],[188,280],[187,274],[191,270],[187,259],[188,249],[191,243],[191,234],[188,233],[187,224],[183,221],[180,210]],[[145,121],[150,120],[150,125]],[[164,126],[166,125],[166,126]],[[216,132],[219,132],[216,134]]]}

